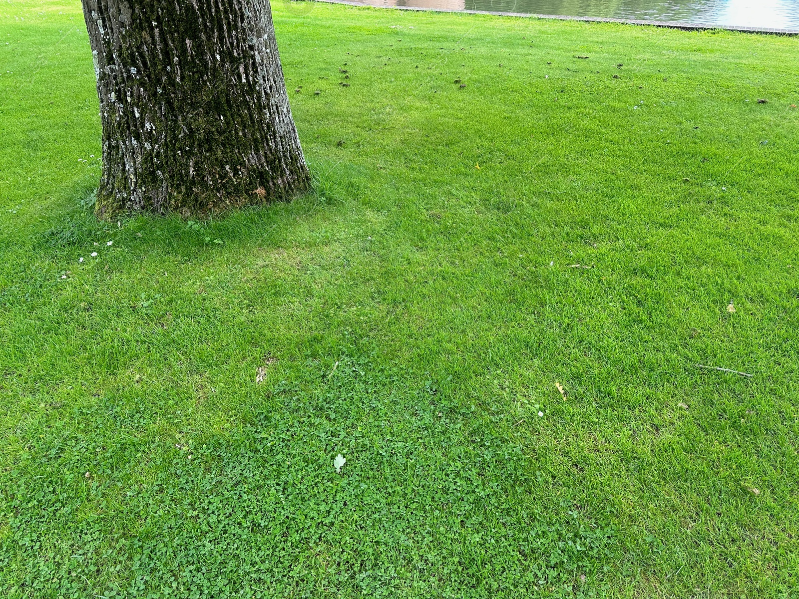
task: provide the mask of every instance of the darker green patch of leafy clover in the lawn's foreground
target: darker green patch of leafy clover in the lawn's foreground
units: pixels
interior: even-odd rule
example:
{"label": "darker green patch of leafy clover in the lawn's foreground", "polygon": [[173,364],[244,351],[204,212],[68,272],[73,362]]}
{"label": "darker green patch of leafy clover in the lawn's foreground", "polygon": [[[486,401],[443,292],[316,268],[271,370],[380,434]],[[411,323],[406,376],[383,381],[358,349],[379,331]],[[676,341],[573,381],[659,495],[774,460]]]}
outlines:
{"label": "darker green patch of leafy clover in the lawn's foreground", "polygon": [[[174,582],[204,597],[252,581],[269,596],[595,589],[617,549],[606,514],[547,493],[547,477],[531,476],[535,458],[490,417],[365,355],[303,374],[242,389],[225,431],[198,427],[173,391],[147,400],[128,389],[73,408],[69,431],[52,431],[13,479],[0,477],[15,508],[0,559],[16,556],[13,568],[54,596],[72,583],[54,565],[106,596]],[[157,433],[167,422],[177,442]],[[338,474],[336,454],[347,458]],[[37,494],[31,509],[26,497],[50,486],[70,493]],[[47,561],[28,550],[32,530]],[[118,577],[97,578],[115,563]]]}

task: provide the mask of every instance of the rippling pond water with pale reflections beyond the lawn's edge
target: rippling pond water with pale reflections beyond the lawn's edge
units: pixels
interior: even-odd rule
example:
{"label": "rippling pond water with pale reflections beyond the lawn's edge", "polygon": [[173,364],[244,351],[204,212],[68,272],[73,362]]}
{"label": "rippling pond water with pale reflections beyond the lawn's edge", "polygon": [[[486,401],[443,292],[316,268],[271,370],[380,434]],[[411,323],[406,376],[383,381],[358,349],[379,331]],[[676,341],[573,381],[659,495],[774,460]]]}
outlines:
{"label": "rippling pond water with pale reflections beyond the lawn's edge", "polygon": [[799,0],[355,0],[370,6],[559,14],[799,30]]}

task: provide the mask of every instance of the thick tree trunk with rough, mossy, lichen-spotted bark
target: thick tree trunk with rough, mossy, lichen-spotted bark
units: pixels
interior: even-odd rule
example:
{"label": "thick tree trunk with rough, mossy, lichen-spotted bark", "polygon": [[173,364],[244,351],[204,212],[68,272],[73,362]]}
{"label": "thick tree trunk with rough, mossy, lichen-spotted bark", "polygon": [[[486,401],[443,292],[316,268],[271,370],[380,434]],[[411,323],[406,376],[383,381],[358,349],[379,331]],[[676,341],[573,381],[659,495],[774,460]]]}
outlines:
{"label": "thick tree trunk with rough, mossy, lichen-spotted bark", "polygon": [[97,214],[198,214],[308,187],[268,0],[83,0]]}

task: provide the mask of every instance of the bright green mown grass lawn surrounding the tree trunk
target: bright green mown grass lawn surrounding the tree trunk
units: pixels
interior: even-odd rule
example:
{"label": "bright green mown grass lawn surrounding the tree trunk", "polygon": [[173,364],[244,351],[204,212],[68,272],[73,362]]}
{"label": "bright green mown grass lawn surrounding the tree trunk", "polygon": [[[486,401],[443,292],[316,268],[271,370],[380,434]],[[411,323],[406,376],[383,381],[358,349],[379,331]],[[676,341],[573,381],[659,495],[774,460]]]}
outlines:
{"label": "bright green mown grass lawn surrounding the tree trunk", "polygon": [[795,597],[799,39],[273,10],[315,192],[100,223],[0,4],[2,597]]}

